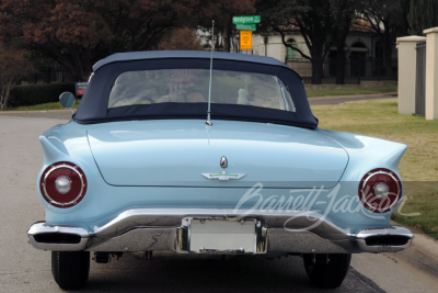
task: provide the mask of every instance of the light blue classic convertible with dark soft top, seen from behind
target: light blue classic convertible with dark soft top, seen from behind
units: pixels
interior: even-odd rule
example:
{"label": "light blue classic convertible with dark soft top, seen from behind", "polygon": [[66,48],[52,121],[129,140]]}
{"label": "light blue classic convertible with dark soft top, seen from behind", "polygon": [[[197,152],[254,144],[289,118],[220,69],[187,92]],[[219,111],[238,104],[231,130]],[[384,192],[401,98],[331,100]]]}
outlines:
{"label": "light blue classic convertible with dark soft top, seen from behind", "polygon": [[284,64],[141,52],[93,71],[72,121],[39,137],[46,218],[27,237],[53,251],[60,288],[85,284],[90,252],[100,263],[301,256],[315,285],[336,288],[351,253],[411,245],[390,225],[406,146],[319,128]]}

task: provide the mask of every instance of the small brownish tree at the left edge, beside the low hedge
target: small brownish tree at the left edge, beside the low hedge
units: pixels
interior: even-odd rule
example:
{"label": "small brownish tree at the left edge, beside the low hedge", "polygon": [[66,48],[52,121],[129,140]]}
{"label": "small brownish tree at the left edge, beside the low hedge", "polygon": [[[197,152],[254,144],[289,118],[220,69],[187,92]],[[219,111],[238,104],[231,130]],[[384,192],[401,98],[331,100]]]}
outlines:
{"label": "small brownish tree at the left edge, beside the low hedge", "polygon": [[0,44],[0,109],[8,106],[15,83],[33,70],[32,63],[23,49],[5,48]]}

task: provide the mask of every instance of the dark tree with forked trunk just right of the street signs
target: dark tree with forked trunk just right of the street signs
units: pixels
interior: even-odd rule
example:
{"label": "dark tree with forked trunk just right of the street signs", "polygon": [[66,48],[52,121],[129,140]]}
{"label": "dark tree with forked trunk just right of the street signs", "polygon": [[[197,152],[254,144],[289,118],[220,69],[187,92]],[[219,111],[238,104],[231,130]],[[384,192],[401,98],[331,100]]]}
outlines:
{"label": "dark tree with forked trunk just right of the street signs", "polygon": [[[321,84],[323,63],[333,44],[334,19],[327,0],[257,0],[262,30],[278,32],[286,47],[297,50],[312,63],[312,84]],[[310,56],[288,44],[286,32],[298,29]]]}

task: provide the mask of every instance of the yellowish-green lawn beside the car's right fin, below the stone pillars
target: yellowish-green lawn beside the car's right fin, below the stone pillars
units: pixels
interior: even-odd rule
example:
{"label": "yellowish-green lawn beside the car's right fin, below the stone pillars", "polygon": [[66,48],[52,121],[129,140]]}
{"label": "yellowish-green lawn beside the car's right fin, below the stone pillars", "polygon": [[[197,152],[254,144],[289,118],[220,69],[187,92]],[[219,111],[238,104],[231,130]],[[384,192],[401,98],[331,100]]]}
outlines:
{"label": "yellowish-green lawn beside the car's right fin, below the stone pillars", "polygon": [[393,219],[438,239],[438,121],[400,115],[396,99],[312,105],[320,127],[399,142],[408,146],[400,162],[407,201]]}

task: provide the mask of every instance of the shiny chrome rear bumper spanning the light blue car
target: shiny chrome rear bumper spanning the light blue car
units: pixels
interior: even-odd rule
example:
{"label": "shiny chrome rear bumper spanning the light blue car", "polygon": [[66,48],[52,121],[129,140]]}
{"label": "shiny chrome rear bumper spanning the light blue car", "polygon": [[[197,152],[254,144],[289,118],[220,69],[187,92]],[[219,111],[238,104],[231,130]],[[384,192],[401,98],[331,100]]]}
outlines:
{"label": "shiny chrome rear bumper spanning the light blue car", "polygon": [[[226,210],[129,210],[102,227],[53,226],[38,222],[27,232],[28,243],[54,251],[150,251],[187,252],[187,218],[235,218]],[[411,246],[414,235],[404,227],[370,227],[351,234],[318,213],[251,214],[262,223],[261,243],[255,253],[395,252]],[[308,227],[308,228],[307,228]]]}

